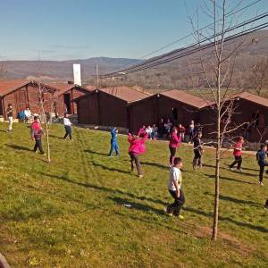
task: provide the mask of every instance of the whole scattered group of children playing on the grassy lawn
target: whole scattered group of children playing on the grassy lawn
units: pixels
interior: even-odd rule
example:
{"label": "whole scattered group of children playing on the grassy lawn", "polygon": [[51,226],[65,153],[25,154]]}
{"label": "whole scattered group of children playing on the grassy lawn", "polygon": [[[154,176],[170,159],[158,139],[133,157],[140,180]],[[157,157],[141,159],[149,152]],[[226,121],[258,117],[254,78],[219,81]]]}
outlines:
{"label": "whole scattered group of children playing on the grassy lawn", "polygon": [[[12,105],[8,105],[7,116],[9,119],[9,129],[8,131],[12,131],[13,125],[13,107]],[[167,133],[167,137],[169,137],[169,149],[170,149],[170,159],[169,159],[169,167],[170,167],[170,176],[168,180],[168,190],[174,199],[174,202],[171,205],[166,207],[166,213],[179,217],[183,219],[183,216],[180,214],[181,207],[185,203],[185,196],[183,189],[181,187],[182,183],[182,159],[180,157],[176,157],[177,149],[180,147],[180,143],[184,140],[184,134],[186,133],[186,129],[181,125],[173,126],[172,122],[168,120],[166,122],[168,126],[165,127],[165,132]],[[64,114],[63,125],[65,129],[65,135],[63,138],[71,139],[71,121],[68,118],[67,114]],[[163,125],[164,126],[164,125]],[[171,127],[171,128],[170,128]],[[128,141],[130,143],[129,147],[129,155],[130,155],[130,169],[131,172],[134,172],[135,166],[138,172],[138,177],[143,177],[143,172],[140,164],[140,155],[146,152],[146,141],[148,138],[156,139],[158,137],[158,133],[162,134],[161,125],[159,128],[154,124],[151,126],[143,126],[138,134],[129,133]],[[118,132],[117,128],[113,128],[111,130],[111,149],[109,152],[110,157],[113,156],[113,152],[115,152],[116,156],[120,156],[119,144],[118,144]],[[42,129],[40,118],[38,116],[34,116],[33,122],[30,125],[30,137],[35,140],[34,152],[40,152],[42,155],[46,155],[43,147],[42,147],[42,135],[46,135],[44,130]],[[202,155],[204,153],[203,141],[202,141],[202,129],[200,126],[195,126],[194,121],[190,121],[188,126],[188,136],[189,142],[193,144],[193,170],[196,171],[197,167],[202,168]],[[239,137],[237,143],[234,146],[233,155],[234,162],[230,163],[229,170],[233,171],[233,168],[237,165],[237,170],[241,172],[241,164],[242,164],[242,149],[244,144],[244,138]],[[256,153],[256,160],[260,167],[259,172],[259,183],[261,186],[264,185],[264,168],[268,166],[268,162],[266,161],[266,157],[268,156],[267,151],[268,141],[266,144],[262,145],[261,148]],[[268,200],[265,203],[265,207],[268,208]]]}

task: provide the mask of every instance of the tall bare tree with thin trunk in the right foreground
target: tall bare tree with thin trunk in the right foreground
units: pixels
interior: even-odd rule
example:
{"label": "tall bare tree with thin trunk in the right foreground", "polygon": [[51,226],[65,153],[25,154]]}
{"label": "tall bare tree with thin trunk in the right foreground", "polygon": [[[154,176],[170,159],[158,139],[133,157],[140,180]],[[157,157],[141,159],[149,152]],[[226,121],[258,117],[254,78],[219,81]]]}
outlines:
{"label": "tall bare tree with thin trunk in the right foreground", "polygon": [[[230,13],[230,11],[228,11],[226,0],[204,1],[203,4],[205,4],[203,11],[214,20],[214,23],[212,23],[212,27],[208,30],[211,34],[208,37],[207,31],[198,28],[198,18],[197,21],[194,21],[195,16],[189,16],[189,21],[196,33],[200,51],[197,56],[198,61],[197,59],[193,61],[195,65],[191,68],[191,80],[200,97],[204,100],[207,98],[213,100],[213,105],[207,103],[210,111],[214,112],[212,119],[214,122],[214,131],[211,133],[215,138],[214,222],[212,239],[216,240],[219,222],[220,166],[222,154],[224,153],[222,151],[222,143],[228,141],[232,144],[234,138],[236,138],[233,133],[241,129],[245,123],[250,123],[241,122],[235,125],[231,121],[232,116],[237,113],[238,100],[236,97],[232,97],[230,84],[233,78],[237,56],[241,47],[245,44],[246,38],[232,40],[228,37],[228,32],[233,27],[234,18],[227,19],[227,13]],[[206,40],[205,45],[211,45],[211,48],[208,48],[205,54],[204,39]],[[227,42],[228,46],[226,46]],[[197,65],[199,68],[197,68]],[[194,71],[196,73],[193,73]],[[198,79],[195,79],[195,77]],[[207,91],[206,96],[204,96],[200,85],[208,88],[210,97],[207,96]]]}

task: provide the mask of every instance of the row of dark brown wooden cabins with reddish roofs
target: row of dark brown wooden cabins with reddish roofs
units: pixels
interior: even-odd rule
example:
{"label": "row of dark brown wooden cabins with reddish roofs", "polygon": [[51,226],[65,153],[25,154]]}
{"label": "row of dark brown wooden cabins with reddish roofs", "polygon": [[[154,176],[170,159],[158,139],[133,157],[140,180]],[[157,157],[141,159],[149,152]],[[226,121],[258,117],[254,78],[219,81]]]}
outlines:
{"label": "row of dark brown wooden cabins with reddish roofs", "polygon": [[[78,86],[72,82],[40,83],[35,80],[0,80],[0,116],[7,118],[6,108],[13,105],[17,118],[27,108],[32,114],[44,112],[55,117],[77,114],[81,125],[120,127],[137,132],[142,126],[157,126],[166,121],[181,124],[187,130],[189,122],[204,126],[206,138],[214,138],[215,109],[213,103],[186,93],[185,90],[165,90],[149,94],[138,87]],[[234,135],[243,135],[249,141],[268,139],[268,99],[242,92],[230,97],[234,113],[226,113],[222,120],[230,120],[237,129]]]}

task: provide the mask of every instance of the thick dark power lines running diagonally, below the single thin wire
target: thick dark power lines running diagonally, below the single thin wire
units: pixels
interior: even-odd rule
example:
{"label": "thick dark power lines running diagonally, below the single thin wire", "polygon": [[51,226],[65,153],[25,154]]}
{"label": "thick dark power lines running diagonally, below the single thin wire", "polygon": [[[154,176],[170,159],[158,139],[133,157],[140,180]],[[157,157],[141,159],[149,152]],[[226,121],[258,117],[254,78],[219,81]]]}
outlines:
{"label": "thick dark power lines running diagonally, below the single thin wire", "polygon": [[[238,25],[235,25],[235,26],[231,27],[230,29],[227,29],[227,30],[226,30],[226,33],[227,33],[227,32],[230,32],[230,31],[232,31],[232,30],[234,30],[234,29],[239,29],[239,28],[241,28],[241,27],[245,27],[247,24],[249,24],[249,23],[253,23],[253,22],[255,22],[255,21],[259,21],[259,20],[261,20],[261,19],[264,19],[264,18],[267,17],[267,16],[268,16],[268,12],[262,13],[262,14],[260,14],[260,15],[258,15],[258,16],[256,16],[256,17],[254,17],[254,18],[252,18],[252,19],[249,19],[249,20],[247,20],[247,21],[243,21],[243,22],[239,23]],[[243,31],[243,32],[245,32],[245,31]],[[221,36],[221,34],[222,34],[222,33],[217,33],[216,36]],[[168,56],[171,56],[171,55],[173,55],[173,54],[178,54],[178,53],[181,53],[181,52],[184,52],[184,51],[188,51],[188,50],[189,50],[190,48],[192,48],[192,47],[196,48],[196,46],[200,46],[200,44],[205,43],[205,42],[207,42],[207,41],[210,41],[210,40],[213,39],[214,37],[215,37],[215,36],[213,35],[213,36],[211,36],[211,37],[209,37],[209,38],[203,38],[202,40],[200,40],[200,41],[197,42],[197,43],[194,43],[194,44],[191,44],[191,45],[189,45],[189,46],[187,46],[187,47],[183,47],[183,48],[177,49],[177,50],[175,50],[175,51],[172,51],[172,52],[170,52],[170,53],[163,54],[163,55],[160,55],[160,56],[158,56],[158,57],[149,59],[149,60],[147,60],[147,61],[144,62],[144,63],[136,64],[136,65],[134,65],[134,66],[132,66],[132,67],[130,67],[130,68],[123,69],[123,70],[121,70],[121,71],[119,71],[119,72],[121,72],[121,75],[126,74],[126,72],[127,72],[127,73],[130,73],[130,72],[132,72],[132,71],[134,71],[134,70],[136,70],[136,69],[138,69],[138,68],[141,68],[141,67],[143,67],[143,66],[147,66],[147,65],[150,64],[150,63],[152,64],[152,63],[158,62],[158,61],[160,61],[160,60],[162,60],[162,59],[164,59],[164,58],[167,58]],[[207,45],[205,45],[205,46],[207,46]],[[198,48],[198,49],[200,49],[200,48]],[[190,51],[190,52],[191,52],[191,51]],[[178,55],[177,55],[177,56],[178,56]],[[175,58],[176,58],[177,56],[175,56]],[[180,57],[180,55],[179,55],[179,57]],[[174,58],[174,57],[173,57],[173,58]],[[175,59],[175,58],[174,58],[174,59]],[[170,61],[170,59],[167,59],[167,60]],[[150,65],[150,66],[151,66],[151,65]],[[111,72],[111,73],[107,73],[107,74],[103,75],[103,77],[110,77],[110,76],[113,76],[113,75],[117,75],[117,76],[119,76],[118,72]]]}

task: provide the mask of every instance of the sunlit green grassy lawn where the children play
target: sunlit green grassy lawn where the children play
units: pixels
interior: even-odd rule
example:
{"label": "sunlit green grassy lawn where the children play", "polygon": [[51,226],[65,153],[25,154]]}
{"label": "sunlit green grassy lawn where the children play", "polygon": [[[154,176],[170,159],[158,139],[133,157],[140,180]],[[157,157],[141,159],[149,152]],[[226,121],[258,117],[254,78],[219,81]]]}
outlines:
{"label": "sunlit green grassy lawn where the children play", "polygon": [[[0,252],[12,267],[267,267],[268,181],[257,184],[255,156],[242,173],[222,161],[221,222],[210,239],[214,202],[214,151],[205,168],[192,172],[192,149],[184,160],[184,221],[163,213],[172,198],[166,188],[167,143],[147,141],[143,179],[130,173],[128,142],[121,157],[108,158],[110,135],[63,126],[51,130],[52,163],[34,154],[29,129],[0,126]],[[123,204],[131,204],[128,208]]]}

